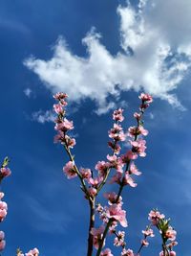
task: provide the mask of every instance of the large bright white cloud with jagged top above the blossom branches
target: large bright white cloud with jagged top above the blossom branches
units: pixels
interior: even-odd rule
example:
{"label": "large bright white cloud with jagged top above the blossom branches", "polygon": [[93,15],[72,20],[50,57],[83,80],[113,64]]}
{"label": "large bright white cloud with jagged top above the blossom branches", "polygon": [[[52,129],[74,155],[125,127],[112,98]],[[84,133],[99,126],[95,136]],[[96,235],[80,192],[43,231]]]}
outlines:
{"label": "large bright white cloud with jagged top above the blossom branches", "polygon": [[141,0],[137,9],[119,6],[123,51],[116,56],[93,29],[82,39],[87,57],[74,55],[59,37],[53,58],[28,58],[24,63],[53,93],[64,91],[77,103],[85,98],[95,101],[97,114],[115,107],[108,96],[118,99],[130,89],[144,90],[182,109],[175,90],[190,68],[190,12],[190,0]]}

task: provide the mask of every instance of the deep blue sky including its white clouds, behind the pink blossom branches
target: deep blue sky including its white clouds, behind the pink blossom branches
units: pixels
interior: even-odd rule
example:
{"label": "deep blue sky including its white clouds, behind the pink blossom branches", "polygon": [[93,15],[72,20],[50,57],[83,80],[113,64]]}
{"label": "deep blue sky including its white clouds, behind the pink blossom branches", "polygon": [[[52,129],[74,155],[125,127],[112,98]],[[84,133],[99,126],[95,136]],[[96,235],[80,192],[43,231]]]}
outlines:
{"label": "deep blue sky including its white clouds, behind the pink blossom branches", "polygon": [[[138,160],[143,175],[123,195],[127,243],[138,248],[147,214],[158,207],[178,231],[178,255],[190,256],[191,3],[130,2],[0,2],[0,156],[11,157],[12,171],[2,185],[4,256],[18,246],[37,246],[42,256],[85,255],[87,203],[77,180],[63,175],[68,159],[53,144],[56,91],[70,96],[76,162],[90,168],[109,152],[112,110],[125,108],[128,128],[139,92],[154,96],[145,116],[147,157]],[[159,250],[153,239],[142,255]]]}

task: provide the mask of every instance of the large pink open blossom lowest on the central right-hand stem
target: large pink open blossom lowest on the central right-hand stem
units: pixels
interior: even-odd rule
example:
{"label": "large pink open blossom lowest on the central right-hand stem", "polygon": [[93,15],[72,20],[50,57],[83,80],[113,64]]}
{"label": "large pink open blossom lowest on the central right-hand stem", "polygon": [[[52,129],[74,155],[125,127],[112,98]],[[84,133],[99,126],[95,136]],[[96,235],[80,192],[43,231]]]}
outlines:
{"label": "large pink open blossom lowest on the central right-hand stem", "polygon": [[121,204],[115,203],[111,205],[106,211],[106,216],[109,219],[114,219],[116,221],[119,221],[119,223],[123,227],[127,226],[126,211],[121,209]]}

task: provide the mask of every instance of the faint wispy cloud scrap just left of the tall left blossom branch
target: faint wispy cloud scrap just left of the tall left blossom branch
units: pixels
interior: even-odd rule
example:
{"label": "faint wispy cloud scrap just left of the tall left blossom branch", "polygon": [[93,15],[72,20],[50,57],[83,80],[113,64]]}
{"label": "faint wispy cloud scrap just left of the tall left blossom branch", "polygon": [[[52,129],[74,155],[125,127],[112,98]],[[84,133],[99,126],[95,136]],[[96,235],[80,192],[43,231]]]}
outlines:
{"label": "faint wispy cloud scrap just left of the tall left blossom branch", "polygon": [[46,122],[53,122],[55,120],[55,115],[52,110],[47,111],[36,111],[32,113],[32,121],[44,124]]}

